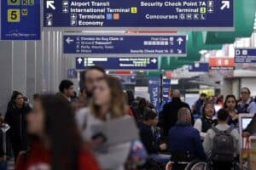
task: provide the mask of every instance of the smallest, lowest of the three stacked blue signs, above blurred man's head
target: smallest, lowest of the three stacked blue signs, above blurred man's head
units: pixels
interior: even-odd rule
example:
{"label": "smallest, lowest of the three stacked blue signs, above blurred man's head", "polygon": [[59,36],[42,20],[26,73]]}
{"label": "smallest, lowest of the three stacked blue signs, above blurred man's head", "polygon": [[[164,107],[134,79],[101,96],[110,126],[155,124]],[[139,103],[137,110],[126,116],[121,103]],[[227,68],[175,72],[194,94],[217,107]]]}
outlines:
{"label": "smallest, lowest of the three stacked blue signs, above blurred man's head", "polygon": [[106,70],[157,70],[157,58],[108,58],[96,57],[76,58],[76,69],[84,70],[89,66],[100,65]]}

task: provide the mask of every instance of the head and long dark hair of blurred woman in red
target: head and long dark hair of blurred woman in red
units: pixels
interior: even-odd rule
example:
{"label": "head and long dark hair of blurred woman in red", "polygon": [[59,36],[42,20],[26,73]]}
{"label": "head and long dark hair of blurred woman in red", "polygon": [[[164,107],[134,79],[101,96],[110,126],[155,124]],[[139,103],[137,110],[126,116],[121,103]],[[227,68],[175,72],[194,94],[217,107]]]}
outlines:
{"label": "head and long dark hair of blurred woman in red", "polygon": [[55,95],[42,95],[27,116],[28,132],[49,147],[51,169],[76,167],[82,139],[71,105]]}

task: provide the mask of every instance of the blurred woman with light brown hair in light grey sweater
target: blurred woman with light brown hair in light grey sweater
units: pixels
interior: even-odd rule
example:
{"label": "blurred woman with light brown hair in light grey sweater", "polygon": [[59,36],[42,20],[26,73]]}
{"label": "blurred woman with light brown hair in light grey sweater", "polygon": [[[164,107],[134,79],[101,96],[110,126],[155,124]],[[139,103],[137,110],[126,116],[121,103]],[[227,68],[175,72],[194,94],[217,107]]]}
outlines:
{"label": "blurred woman with light brown hair in light grey sweater", "polygon": [[[95,149],[96,159],[102,169],[123,169],[131,149],[131,141],[107,146],[103,150],[97,150],[103,146],[104,136],[97,135],[93,127],[113,122],[113,120],[131,119],[131,117],[126,116],[126,112],[122,85],[118,78],[108,76],[103,77],[97,82],[92,100],[90,101],[90,108],[80,110],[76,114],[84,141],[92,144],[92,147]],[[120,126],[113,129],[113,135],[117,135],[115,132],[119,131]],[[135,122],[134,126],[136,126]],[[97,136],[98,138],[96,138]]]}

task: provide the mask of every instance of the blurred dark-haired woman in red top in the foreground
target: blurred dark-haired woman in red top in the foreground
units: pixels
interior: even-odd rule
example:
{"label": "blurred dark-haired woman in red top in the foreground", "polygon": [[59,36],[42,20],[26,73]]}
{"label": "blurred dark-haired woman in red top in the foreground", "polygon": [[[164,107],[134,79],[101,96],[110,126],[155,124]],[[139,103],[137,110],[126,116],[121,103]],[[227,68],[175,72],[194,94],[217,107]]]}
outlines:
{"label": "blurred dark-haired woman in red top in the foreground", "polygon": [[27,116],[33,135],[31,150],[22,154],[15,170],[99,170],[84,148],[71,105],[54,95],[43,95]]}

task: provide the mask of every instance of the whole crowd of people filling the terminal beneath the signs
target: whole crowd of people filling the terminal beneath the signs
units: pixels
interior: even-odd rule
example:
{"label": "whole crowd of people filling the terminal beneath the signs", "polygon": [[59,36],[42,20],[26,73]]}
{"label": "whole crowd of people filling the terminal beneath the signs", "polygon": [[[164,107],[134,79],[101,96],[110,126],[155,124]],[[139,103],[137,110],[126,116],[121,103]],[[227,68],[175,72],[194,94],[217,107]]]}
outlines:
{"label": "whole crowd of people filling the terminal beneath the signs", "polygon": [[[33,105],[13,93],[2,123],[9,125],[16,170],[122,170],[127,162],[135,165],[130,169],[157,169],[150,162],[165,167],[178,159],[230,169],[240,151],[238,115],[256,113],[248,88],[241,88],[239,101],[228,95],[213,103],[201,94],[192,110],[172,90],[158,113],[101,67],[88,68],[80,79],[79,97],[69,80],[61,81],[58,94],[35,94]],[[215,111],[214,104],[223,108]],[[250,125],[243,135],[254,129]]]}

